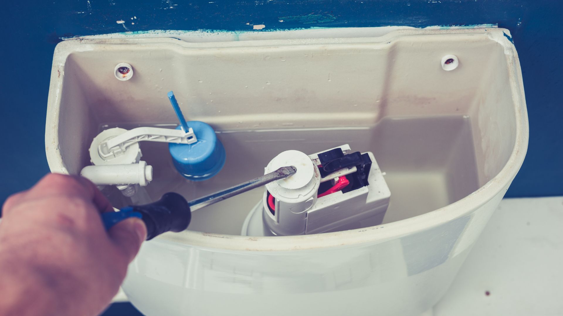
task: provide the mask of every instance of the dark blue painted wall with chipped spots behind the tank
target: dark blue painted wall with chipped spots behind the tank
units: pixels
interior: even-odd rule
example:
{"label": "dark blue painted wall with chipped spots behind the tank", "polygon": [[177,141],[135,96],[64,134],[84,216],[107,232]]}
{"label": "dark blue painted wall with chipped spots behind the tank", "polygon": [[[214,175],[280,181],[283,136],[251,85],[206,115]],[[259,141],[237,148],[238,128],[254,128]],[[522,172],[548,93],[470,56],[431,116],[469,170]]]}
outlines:
{"label": "dark blue painted wall with chipped spots behind the tank", "polygon": [[[59,38],[126,31],[124,25],[129,31],[250,30],[247,23],[265,24],[262,31],[475,24],[509,29],[524,76],[530,145],[507,196],[563,195],[562,13],[561,1],[533,0],[9,1],[0,12],[4,33],[0,48],[0,203],[48,172],[45,112],[52,53]],[[133,16],[137,19],[131,21]],[[117,24],[117,20],[126,24]]]}

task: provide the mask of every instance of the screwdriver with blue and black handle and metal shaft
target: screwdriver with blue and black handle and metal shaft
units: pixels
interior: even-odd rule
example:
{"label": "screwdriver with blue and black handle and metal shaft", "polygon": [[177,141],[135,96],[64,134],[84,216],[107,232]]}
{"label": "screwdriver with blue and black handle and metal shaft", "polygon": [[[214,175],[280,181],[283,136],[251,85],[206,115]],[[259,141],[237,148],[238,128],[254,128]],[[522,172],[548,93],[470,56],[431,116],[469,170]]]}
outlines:
{"label": "screwdriver with blue and black handle and metal shaft", "polygon": [[253,188],[261,187],[275,180],[287,178],[296,173],[296,171],[297,169],[294,166],[282,167],[262,175],[262,177],[248,180],[234,187],[189,202],[178,193],[164,193],[160,200],[150,204],[127,206],[117,212],[101,213],[102,222],[107,231],[124,219],[130,217],[140,218],[146,225],[146,240],[151,240],[162,233],[184,231],[190,224],[191,212],[195,210],[250,191]]}

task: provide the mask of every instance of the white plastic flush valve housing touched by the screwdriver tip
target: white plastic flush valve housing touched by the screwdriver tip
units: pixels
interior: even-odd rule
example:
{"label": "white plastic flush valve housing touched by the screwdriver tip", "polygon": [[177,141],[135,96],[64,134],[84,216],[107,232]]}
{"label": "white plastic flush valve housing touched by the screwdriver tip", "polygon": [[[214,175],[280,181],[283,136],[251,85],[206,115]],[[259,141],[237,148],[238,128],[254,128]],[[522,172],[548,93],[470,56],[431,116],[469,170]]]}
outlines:
{"label": "white plastic flush valve housing touched by the screwdriver tip", "polygon": [[[339,146],[339,148],[342,149],[344,154],[349,154],[349,145]],[[328,150],[321,152],[325,151]],[[262,197],[262,211],[258,213],[252,212],[249,215],[262,216],[262,221],[249,219],[253,224],[263,225],[263,234],[258,236],[336,232],[381,224],[389,205],[391,192],[387,187],[387,183],[385,183],[385,179],[372,152],[367,153],[372,160],[372,166],[368,175],[368,186],[346,193],[338,191],[318,198],[316,195],[321,182],[356,171],[356,167],[351,169],[344,168],[321,179],[319,169],[316,168],[319,164],[318,154],[321,152],[307,156],[299,151],[285,151],[272,159],[270,164],[268,164],[265,173],[270,172],[270,169],[275,170],[275,168],[283,165],[300,165],[301,168],[298,166],[296,174],[283,180],[285,187],[292,188],[282,188],[283,190],[280,190],[279,183],[282,183],[282,180],[266,185]],[[305,163],[305,160],[312,163]],[[301,178],[303,175],[300,174],[300,171],[303,173],[303,169],[310,171],[310,174],[306,174],[306,177],[308,177],[306,179]],[[301,183],[292,186],[298,182]],[[314,188],[314,191],[311,191],[311,189],[303,190],[306,188],[304,184],[309,182],[314,182],[314,184],[310,185],[311,188]],[[268,192],[275,198],[274,214],[272,214],[268,207]],[[296,196],[299,197],[299,200],[288,200],[287,196]],[[260,229],[247,228],[247,232],[244,234],[254,236],[250,233],[253,231],[260,231]]]}

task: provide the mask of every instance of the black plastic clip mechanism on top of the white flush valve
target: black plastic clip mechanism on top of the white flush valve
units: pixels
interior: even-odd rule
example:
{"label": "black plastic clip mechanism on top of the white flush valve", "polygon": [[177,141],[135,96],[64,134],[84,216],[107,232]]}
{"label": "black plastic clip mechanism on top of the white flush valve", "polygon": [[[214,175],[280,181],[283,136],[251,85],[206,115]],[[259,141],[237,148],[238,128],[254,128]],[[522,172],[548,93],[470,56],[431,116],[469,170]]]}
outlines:
{"label": "black plastic clip mechanism on top of the white flush valve", "polygon": [[[321,177],[326,177],[336,170],[352,168],[356,166],[356,171],[347,174],[346,178],[350,181],[342,193],[350,192],[355,189],[368,185],[369,170],[372,168],[372,160],[368,154],[360,154],[359,151],[344,155],[340,148],[325,151],[319,154],[319,161],[323,168],[319,168]],[[322,185],[323,183],[321,183]],[[327,191],[328,188],[319,187],[319,193]]]}

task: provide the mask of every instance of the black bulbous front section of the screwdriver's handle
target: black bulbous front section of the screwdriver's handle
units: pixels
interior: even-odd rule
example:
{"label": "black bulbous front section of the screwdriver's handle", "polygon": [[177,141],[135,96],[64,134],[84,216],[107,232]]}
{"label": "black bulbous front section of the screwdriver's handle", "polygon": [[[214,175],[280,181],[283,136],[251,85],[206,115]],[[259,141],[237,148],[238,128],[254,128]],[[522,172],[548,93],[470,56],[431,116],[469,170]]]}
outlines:
{"label": "black bulbous front section of the screwdriver's handle", "polygon": [[168,192],[156,202],[131,207],[142,215],[147,231],[146,240],[166,232],[184,231],[190,224],[190,205],[178,193]]}

